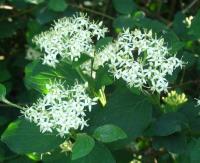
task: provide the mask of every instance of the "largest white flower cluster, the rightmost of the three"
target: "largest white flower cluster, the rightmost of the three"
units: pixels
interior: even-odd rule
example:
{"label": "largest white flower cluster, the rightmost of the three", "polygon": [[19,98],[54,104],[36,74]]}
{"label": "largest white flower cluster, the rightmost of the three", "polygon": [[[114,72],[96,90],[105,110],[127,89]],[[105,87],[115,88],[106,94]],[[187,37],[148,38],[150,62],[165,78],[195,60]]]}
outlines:
{"label": "largest white flower cluster, the rightmost of the three", "polygon": [[116,79],[122,78],[132,87],[148,87],[151,91],[167,92],[166,75],[172,75],[183,63],[171,56],[164,39],[157,38],[152,31],[129,29],[117,40],[107,45],[94,58],[94,69],[109,66]]}

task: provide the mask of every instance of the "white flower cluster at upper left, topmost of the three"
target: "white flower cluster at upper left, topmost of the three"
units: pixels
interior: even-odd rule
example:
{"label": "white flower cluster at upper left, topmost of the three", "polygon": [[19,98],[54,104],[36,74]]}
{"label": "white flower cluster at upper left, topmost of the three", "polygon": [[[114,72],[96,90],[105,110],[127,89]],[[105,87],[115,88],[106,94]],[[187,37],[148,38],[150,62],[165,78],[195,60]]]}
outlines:
{"label": "white flower cluster at upper left, topmost of the three", "polygon": [[59,19],[53,27],[33,41],[44,50],[43,64],[55,67],[59,59],[76,61],[81,54],[94,55],[94,40],[104,37],[107,28],[102,22],[90,21],[82,13]]}

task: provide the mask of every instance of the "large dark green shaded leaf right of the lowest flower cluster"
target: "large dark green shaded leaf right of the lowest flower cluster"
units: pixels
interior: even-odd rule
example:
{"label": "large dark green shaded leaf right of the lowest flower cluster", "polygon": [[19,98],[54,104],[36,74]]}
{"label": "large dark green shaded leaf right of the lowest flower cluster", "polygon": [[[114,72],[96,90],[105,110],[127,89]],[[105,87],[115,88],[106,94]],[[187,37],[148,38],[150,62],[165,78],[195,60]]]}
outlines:
{"label": "large dark green shaded leaf right of the lowest flower cluster", "polygon": [[120,127],[129,140],[133,140],[143,134],[152,120],[148,99],[144,95],[134,95],[122,86],[112,93],[104,108],[96,107],[88,114],[90,126],[86,130],[91,133],[99,126],[113,124]]}

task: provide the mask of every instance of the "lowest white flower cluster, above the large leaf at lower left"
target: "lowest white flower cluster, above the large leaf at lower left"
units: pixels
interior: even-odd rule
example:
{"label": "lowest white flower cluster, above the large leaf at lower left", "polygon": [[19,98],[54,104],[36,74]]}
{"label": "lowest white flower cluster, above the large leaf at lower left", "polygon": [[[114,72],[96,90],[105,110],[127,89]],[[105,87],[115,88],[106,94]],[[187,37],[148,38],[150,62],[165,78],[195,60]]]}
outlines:
{"label": "lowest white flower cluster, above the large leaf at lower left", "polygon": [[55,130],[63,137],[70,129],[82,130],[88,126],[86,112],[91,111],[97,101],[86,94],[86,87],[76,83],[65,89],[63,83],[51,82],[46,85],[48,93],[32,106],[25,107],[22,113],[25,118],[36,123],[42,133]]}

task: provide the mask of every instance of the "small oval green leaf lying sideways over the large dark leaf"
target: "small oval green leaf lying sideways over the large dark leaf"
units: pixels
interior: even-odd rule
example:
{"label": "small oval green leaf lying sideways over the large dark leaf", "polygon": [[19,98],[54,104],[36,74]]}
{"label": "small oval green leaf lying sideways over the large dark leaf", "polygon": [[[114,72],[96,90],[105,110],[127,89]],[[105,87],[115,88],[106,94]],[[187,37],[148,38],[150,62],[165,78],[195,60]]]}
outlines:
{"label": "small oval green leaf lying sideways over the large dark leaf", "polygon": [[110,143],[127,138],[126,133],[121,128],[112,124],[106,124],[96,128],[93,136],[103,143]]}

